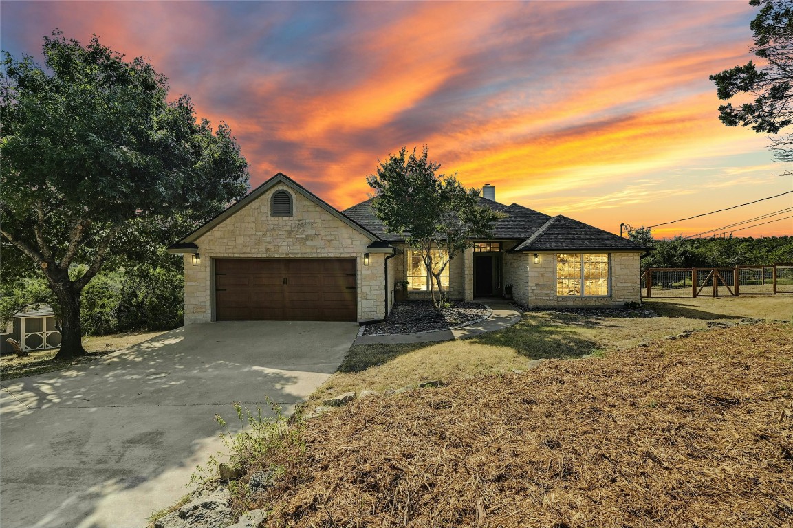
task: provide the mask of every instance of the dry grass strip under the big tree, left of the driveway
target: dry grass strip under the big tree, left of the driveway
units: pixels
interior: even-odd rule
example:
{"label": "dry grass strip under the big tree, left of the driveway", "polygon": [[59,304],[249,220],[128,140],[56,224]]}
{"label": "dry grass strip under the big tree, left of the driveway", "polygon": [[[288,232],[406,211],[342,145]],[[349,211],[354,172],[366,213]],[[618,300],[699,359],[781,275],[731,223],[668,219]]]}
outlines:
{"label": "dry grass strip under the big tree, left of the driveway", "polygon": [[127,334],[97,335],[82,339],[82,346],[89,354],[71,361],[55,361],[55,356],[59,349],[34,350],[29,356],[17,358],[10,354],[0,356],[0,378],[9,380],[14,377],[35,376],[52,372],[54,370],[66,369],[74,365],[92,362],[105,354],[122,350],[128,346],[133,346],[139,342],[144,342],[160,334],[156,332],[132,332]]}

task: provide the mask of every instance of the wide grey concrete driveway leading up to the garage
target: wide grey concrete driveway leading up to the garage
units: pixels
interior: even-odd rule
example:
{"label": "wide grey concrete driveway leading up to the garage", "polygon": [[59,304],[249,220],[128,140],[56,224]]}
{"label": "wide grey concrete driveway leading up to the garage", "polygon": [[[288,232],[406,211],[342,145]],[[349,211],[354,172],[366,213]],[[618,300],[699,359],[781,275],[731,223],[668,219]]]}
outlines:
{"label": "wide grey concrete driveway leading up to the garage", "polygon": [[291,412],[333,373],[356,323],[193,325],[57,373],[2,381],[3,528],[141,528],[222,449],[232,403]]}

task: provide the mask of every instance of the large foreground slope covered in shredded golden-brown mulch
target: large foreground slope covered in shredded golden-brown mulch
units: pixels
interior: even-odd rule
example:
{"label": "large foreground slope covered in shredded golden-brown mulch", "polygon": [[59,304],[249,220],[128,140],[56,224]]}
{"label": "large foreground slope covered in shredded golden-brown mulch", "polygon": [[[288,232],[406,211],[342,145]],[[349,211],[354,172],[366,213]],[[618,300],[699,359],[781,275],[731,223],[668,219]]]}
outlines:
{"label": "large foreground slope covered in shredded golden-brown mulch", "polygon": [[358,400],[266,526],[793,525],[793,329],[732,327]]}

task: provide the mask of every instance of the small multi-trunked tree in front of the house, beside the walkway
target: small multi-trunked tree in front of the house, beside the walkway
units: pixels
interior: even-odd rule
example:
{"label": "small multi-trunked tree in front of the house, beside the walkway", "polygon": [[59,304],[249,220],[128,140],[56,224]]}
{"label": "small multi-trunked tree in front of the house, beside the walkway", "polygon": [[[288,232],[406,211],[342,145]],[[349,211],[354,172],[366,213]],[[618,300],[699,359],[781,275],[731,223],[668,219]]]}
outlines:
{"label": "small multi-trunked tree in front of the house, beside the walkway", "polygon": [[[478,204],[479,190],[465,189],[455,174],[437,174],[440,163],[416,148],[402,147],[397,155],[379,162],[377,174],[366,178],[375,191],[374,209],[390,233],[404,235],[421,251],[431,275],[430,292],[435,308],[446,304],[441,276],[454,256],[473,245],[473,238],[488,238],[490,224],[500,218]],[[435,290],[438,295],[436,297]]]}

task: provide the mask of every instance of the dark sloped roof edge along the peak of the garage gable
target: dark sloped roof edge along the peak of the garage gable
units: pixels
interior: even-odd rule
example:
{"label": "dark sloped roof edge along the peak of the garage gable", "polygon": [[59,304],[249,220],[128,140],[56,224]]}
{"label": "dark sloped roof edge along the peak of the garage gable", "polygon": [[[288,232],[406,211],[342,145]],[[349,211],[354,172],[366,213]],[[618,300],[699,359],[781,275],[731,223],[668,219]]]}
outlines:
{"label": "dark sloped roof edge along the peak of the garage gable", "polygon": [[236,212],[239,212],[240,209],[245,208],[247,205],[251,205],[254,201],[256,201],[257,198],[262,196],[262,194],[266,193],[274,186],[277,186],[279,183],[284,184],[285,186],[289,187],[289,189],[292,189],[296,193],[301,194],[303,197],[308,198],[308,200],[320,206],[321,209],[324,209],[332,216],[335,216],[339,220],[343,221],[345,224],[349,225],[351,228],[366,236],[366,238],[372,240],[373,242],[375,240],[381,240],[380,236],[361,224],[358,224],[358,222],[345,215],[343,212],[339,212],[338,209],[335,209],[332,205],[316,196],[316,194],[312,193],[304,186],[301,186],[299,183],[295,182],[292,178],[289,178],[289,176],[286,174],[279,172],[266,182],[262,183],[262,185],[256,187],[250,193],[247,193],[244,197],[234,202],[232,205],[229,205],[228,208],[224,209],[223,212],[220,212],[220,214],[208,220],[205,222],[205,224],[202,224],[195,231],[183,236],[182,239],[180,239],[177,243],[171,244],[168,247],[168,251],[170,253],[182,253],[185,252],[186,249],[191,249],[191,247],[195,245],[193,243],[197,239],[200,239],[201,236],[205,235],[209,231],[212,231],[213,228],[219,224],[222,224],[224,220],[228,219],[230,216],[233,216],[236,214]]}

